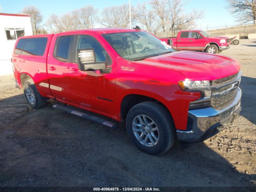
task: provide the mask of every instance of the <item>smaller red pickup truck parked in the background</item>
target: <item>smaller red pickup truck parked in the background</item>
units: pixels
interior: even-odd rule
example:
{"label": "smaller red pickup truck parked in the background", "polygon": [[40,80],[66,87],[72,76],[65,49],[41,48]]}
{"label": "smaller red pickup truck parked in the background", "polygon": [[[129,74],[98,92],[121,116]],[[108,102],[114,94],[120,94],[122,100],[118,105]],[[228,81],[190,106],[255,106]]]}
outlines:
{"label": "smaller red pickup truck parked in the background", "polygon": [[220,53],[230,45],[229,38],[211,36],[203,30],[180,31],[177,37],[161,38],[161,40],[177,50],[200,50],[211,54]]}

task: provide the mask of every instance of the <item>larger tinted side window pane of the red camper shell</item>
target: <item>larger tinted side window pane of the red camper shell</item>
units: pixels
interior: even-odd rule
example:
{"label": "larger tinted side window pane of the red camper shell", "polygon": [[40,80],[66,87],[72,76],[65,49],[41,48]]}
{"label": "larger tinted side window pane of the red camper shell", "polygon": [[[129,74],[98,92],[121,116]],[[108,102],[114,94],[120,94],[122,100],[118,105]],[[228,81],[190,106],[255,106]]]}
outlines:
{"label": "larger tinted side window pane of the red camper shell", "polygon": [[45,47],[47,44],[47,37],[28,38],[21,52],[22,55],[44,55]]}

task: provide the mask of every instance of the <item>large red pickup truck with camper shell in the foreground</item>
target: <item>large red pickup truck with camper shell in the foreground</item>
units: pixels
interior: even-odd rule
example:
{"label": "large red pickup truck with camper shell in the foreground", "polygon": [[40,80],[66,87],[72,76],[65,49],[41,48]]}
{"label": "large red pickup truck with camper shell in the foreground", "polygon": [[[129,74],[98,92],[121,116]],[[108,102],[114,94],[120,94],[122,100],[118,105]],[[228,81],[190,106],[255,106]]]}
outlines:
{"label": "large red pickup truck with camper shell in the foreground", "polygon": [[[126,121],[144,152],[163,154],[174,144],[201,141],[240,112],[240,63],[226,56],[175,52],[137,29],[76,30],[18,38],[16,83],[32,108],[48,98],[70,114],[116,128],[81,108]],[[68,104],[68,106],[66,106]]]}

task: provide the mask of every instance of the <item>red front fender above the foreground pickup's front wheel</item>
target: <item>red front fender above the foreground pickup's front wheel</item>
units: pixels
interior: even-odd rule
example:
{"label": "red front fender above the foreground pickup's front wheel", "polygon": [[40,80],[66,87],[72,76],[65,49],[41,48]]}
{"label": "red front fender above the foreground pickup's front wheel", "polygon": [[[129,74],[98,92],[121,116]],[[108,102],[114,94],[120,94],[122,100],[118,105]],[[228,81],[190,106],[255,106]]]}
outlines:
{"label": "red front fender above the foreground pickup's front wheel", "polygon": [[[150,68],[150,67],[148,67]],[[165,70],[174,75],[173,71]],[[155,73],[157,74],[157,72]],[[180,73],[177,73],[180,74]],[[177,75],[176,74],[176,75]],[[117,74],[116,78],[116,116],[119,121],[121,118],[121,105],[122,100],[131,94],[146,96],[161,102],[169,110],[176,129],[186,130],[188,119],[188,107],[191,101],[200,98],[199,92],[185,92],[180,89],[177,83],[173,83],[170,80],[167,81],[166,77],[162,77],[158,80],[155,77],[143,78],[142,75],[131,74]],[[181,78],[176,76],[176,78]],[[154,79],[154,80],[153,80]]]}

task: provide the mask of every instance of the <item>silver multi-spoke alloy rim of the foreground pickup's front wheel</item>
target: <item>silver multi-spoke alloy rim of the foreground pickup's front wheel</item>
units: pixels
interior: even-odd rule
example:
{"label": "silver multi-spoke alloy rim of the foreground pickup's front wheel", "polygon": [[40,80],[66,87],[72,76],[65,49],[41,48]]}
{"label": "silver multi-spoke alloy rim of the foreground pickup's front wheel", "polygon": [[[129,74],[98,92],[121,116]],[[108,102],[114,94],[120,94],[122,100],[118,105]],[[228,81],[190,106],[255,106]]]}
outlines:
{"label": "silver multi-spoke alloy rim of the foreground pickup's front wheel", "polygon": [[142,145],[154,147],[159,141],[159,130],[156,123],[146,115],[137,115],[132,121],[134,136]]}

